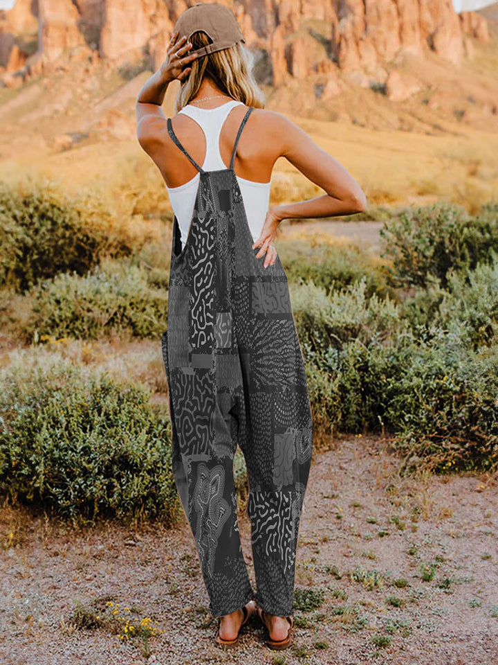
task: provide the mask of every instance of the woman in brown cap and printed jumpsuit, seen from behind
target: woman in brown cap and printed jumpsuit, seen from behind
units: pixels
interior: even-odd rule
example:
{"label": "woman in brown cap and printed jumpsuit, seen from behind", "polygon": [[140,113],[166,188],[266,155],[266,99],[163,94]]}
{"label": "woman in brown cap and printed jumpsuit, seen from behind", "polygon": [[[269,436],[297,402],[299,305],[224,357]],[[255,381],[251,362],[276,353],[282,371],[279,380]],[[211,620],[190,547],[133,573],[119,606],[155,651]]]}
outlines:
{"label": "woman in brown cap and printed jumpsuit, seen from behind", "polygon": [[[172,464],[210,611],[219,617],[216,643],[237,644],[241,626],[258,612],[266,644],[286,648],[312,427],[274,242],[284,219],[352,214],[366,200],[347,170],[303,130],[264,110],[243,41],[232,12],[219,3],[183,12],[165,62],[138,94],[137,134],[174,208],[162,340]],[[181,82],[177,113],[167,119],[161,105],[174,79]],[[268,209],[279,157],[327,193]],[[237,444],[248,469],[257,604],[237,526]]]}

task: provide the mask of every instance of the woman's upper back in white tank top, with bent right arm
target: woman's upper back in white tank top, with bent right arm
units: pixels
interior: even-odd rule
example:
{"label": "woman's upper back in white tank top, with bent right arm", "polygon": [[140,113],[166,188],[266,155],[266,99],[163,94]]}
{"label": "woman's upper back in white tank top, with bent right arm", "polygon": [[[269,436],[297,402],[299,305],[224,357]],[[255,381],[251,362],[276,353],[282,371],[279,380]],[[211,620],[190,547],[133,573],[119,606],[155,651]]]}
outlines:
{"label": "woman's upper back in white tank top, with bent right arm", "polygon": [[[217,96],[221,97],[221,94]],[[202,98],[202,90],[199,97]],[[196,190],[199,170],[178,150],[178,145],[169,136],[167,118],[162,109],[153,104],[147,107],[149,112],[144,113],[143,120],[139,122],[138,139],[163,176],[175,214],[178,211],[176,217],[183,229],[182,240],[185,242],[194,206],[195,191],[192,190]],[[228,109],[226,112],[225,108]],[[183,148],[201,168],[206,165],[209,167],[207,170],[212,170],[213,166],[214,170],[228,168],[235,137],[247,111],[248,106],[235,99],[212,108],[187,104],[171,118],[172,127]],[[208,120],[211,115],[212,120]],[[218,119],[217,125],[214,118]],[[216,130],[213,129],[215,126]],[[269,200],[271,175],[280,157],[284,157],[304,177],[324,189],[326,194],[269,209],[263,193]],[[250,114],[237,145],[234,173],[243,191],[246,216],[251,218],[249,223],[252,236],[258,235],[256,231],[263,222],[261,235],[255,238],[259,245],[265,245],[268,233],[273,243],[276,231],[273,220],[277,221],[276,218],[278,221],[289,218],[326,218],[365,210],[365,194],[342,164],[322,150],[299,125],[269,109],[254,108]],[[264,216],[261,219],[264,214],[266,219]],[[265,229],[269,218],[272,221]]]}

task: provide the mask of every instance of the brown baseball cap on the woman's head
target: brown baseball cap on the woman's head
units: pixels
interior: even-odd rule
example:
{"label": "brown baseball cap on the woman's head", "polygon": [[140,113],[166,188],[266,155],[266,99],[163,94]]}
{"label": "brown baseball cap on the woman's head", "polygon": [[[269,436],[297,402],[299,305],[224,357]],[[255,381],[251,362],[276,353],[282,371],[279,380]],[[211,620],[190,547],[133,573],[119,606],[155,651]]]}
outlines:
{"label": "brown baseball cap on the woman's head", "polygon": [[192,33],[203,30],[212,39],[212,44],[207,44],[197,51],[189,51],[189,55],[196,53],[198,57],[208,55],[222,48],[229,48],[237,42],[246,42],[243,38],[237,19],[230,9],[219,2],[198,2],[188,8],[176,20],[173,32],[178,30],[178,39],[187,37],[190,39]]}

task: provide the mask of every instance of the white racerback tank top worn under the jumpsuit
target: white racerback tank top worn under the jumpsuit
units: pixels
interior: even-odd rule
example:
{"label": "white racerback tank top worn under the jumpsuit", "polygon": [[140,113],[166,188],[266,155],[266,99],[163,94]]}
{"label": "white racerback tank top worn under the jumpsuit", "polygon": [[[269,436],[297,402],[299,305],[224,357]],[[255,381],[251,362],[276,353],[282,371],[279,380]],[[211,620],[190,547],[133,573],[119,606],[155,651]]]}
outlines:
{"label": "white racerback tank top worn under the jumpsuit", "polygon": [[[206,171],[228,168],[223,162],[223,159],[221,159],[221,154],[219,152],[219,136],[228,114],[232,108],[238,104],[242,104],[242,102],[231,100],[215,109],[201,109],[187,104],[187,106],[184,106],[183,109],[178,111],[178,113],[183,113],[196,121],[204,132],[206,154],[204,163],[201,164],[201,167]],[[166,186],[169,194],[169,201],[172,204],[174,214],[178,220],[182,248],[185,244],[185,238],[187,238],[190,222],[194,213],[199,177],[200,173],[197,171],[192,180],[189,180],[179,187]],[[235,177],[237,178],[237,181],[239,181],[252,240],[256,240],[259,238],[259,234],[261,233],[266,218],[266,213],[268,212],[271,181],[255,182],[253,180],[241,178],[238,175]]]}

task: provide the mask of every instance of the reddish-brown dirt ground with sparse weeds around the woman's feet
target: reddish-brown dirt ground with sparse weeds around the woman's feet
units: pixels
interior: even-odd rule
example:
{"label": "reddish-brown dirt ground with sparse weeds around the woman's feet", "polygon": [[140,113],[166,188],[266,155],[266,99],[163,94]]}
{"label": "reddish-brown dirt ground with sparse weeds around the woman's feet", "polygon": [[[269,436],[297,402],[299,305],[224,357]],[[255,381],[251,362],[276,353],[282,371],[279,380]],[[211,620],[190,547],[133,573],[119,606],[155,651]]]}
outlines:
{"label": "reddish-brown dirt ground with sparse weeds around the woman's feet", "polygon": [[[350,436],[313,452],[295,640],[282,652],[264,646],[257,621],[237,650],[214,645],[185,518],[172,530],[78,531],[3,508],[0,662],[498,665],[498,476],[406,478],[399,468],[380,438]],[[255,586],[247,513],[239,526]],[[116,608],[161,632],[146,642],[118,637],[109,622],[91,625]]]}

